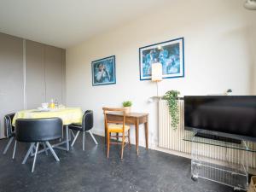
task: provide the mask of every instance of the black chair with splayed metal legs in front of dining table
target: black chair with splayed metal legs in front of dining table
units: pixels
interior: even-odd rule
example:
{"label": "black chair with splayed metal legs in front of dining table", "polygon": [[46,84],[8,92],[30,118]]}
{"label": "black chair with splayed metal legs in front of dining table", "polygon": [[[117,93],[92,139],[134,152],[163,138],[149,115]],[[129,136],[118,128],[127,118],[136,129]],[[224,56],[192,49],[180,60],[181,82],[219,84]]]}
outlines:
{"label": "black chair with splayed metal legs in front of dining table", "polygon": [[[37,160],[39,143],[45,143],[48,148],[44,148],[44,151],[50,150],[55,157],[56,161],[60,161],[55,154],[54,149],[49,144],[49,141],[59,139],[62,137],[62,120],[59,118],[47,118],[47,119],[16,119],[15,122],[15,137],[16,141],[23,143],[31,143],[30,148],[26,152],[26,156],[22,161],[22,164],[26,163],[29,154],[32,154],[32,150],[36,145],[36,152],[34,153],[34,160],[32,165],[32,172],[34,172],[35,163]],[[15,156],[15,150],[14,150]]]}

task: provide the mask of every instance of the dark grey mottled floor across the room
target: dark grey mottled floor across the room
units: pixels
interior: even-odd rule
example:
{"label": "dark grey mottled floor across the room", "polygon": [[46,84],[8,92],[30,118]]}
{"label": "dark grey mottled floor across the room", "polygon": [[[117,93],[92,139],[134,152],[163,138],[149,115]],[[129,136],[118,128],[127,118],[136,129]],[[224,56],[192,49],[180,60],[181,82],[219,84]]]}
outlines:
{"label": "dark grey mottled floor across the room", "polygon": [[12,149],[3,155],[6,139],[0,140],[0,192],[229,192],[230,187],[204,179],[190,178],[190,160],[172,154],[140,148],[125,148],[120,160],[119,146],[110,148],[107,159],[104,137],[96,137],[95,145],[87,135],[85,151],[81,137],[70,152],[55,149],[60,158],[38,154],[35,172],[31,172],[32,158],[25,165],[21,161],[28,144],[18,143],[15,160]]}

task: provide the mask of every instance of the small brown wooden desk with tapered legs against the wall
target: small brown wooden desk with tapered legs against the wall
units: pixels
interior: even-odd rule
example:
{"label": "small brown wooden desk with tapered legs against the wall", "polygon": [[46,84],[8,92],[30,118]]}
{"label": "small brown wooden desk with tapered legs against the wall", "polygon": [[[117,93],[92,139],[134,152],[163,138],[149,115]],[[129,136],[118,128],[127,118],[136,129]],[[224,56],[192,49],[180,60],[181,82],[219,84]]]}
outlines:
{"label": "small brown wooden desk with tapered legs against the wall", "polygon": [[[123,114],[118,112],[109,112],[107,114],[109,120],[120,120],[123,121]],[[135,137],[136,137],[136,149],[138,154],[139,145],[139,125],[144,124],[145,127],[145,140],[146,148],[148,149],[148,113],[126,113],[125,124],[135,125]],[[107,126],[105,125],[105,143],[107,142]]]}

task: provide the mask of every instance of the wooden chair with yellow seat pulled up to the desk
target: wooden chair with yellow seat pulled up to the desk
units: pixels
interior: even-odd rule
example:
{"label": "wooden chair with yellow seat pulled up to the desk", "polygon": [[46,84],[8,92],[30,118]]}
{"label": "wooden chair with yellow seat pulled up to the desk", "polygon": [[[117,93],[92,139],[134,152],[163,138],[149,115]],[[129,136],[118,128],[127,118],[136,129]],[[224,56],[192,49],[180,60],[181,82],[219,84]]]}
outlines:
{"label": "wooden chair with yellow seat pulled up to the desk", "polygon": [[[108,151],[107,151],[107,156],[109,157],[109,145],[110,144],[121,144],[122,145],[122,150],[121,150],[121,159],[123,159],[123,154],[124,154],[124,148],[125,148],[125,137],[128,137],[128,143],[131,148],[131,140],[130,140],[130,125],[125,125],[125,109],[124,108],[102,108],[104,112],[104,119],[105,119],[105,125],[107,128],[107,143],[108,143]],[[108,119],[108,113],[109,112],[116,112],[116,113],[122,113],[124,118],[121,121],[117,120],[112,120]],[[111,136],[111,133],[116,133],[116,136]],[[119,133],[122,134],[122,136],[119,136]],[[125,134],[127,136],[125,136]],[[113,142],[110,143],[110,139],[114,138],[119,138],[122,137],[122,142]]]}

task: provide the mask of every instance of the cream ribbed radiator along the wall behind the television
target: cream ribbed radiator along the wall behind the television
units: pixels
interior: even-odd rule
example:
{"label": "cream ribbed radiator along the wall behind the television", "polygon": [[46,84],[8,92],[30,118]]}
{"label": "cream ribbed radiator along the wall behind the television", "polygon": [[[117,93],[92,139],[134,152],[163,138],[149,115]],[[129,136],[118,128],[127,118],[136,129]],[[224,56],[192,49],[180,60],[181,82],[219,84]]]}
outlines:
{"label": "cream ribbed radiator along the wall behind the television", "polygon": [[[191,142],[183,141],[184,125],[183,125],[183,101],[178,101],[180,123],[177,126],[177,130],[173,130],[171,127],[171,116],[169,114],[169,108],[165,100],[159,101],[159,147],[170,149],[172,151],[181,152],[184,154],[191,154]],[[201,148],[202,156],[214,159],[224,160],[232,163],[239,161],[240,150],[231,148],[222,148],[217,146],[211,146],[208,144],[199,143],[198,147]],[[256,148],[255,143],[247,143],[249,148]],[[256,168],[256,153],[249,153],[248,166]]]}

